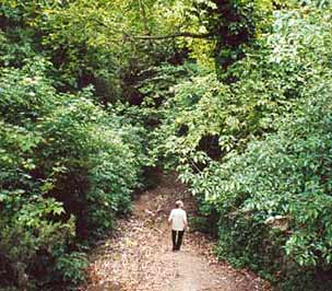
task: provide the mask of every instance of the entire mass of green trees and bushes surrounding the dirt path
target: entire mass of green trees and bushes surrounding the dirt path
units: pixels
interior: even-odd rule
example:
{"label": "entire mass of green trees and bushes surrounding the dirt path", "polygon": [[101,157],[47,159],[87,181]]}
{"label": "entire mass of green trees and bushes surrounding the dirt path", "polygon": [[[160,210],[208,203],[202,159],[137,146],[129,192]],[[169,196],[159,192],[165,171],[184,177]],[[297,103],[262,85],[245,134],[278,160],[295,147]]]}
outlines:
{"label": "entire mass of green trees and bushes surrounding the dirt path", "polygon": [[188,184],[221,258],[329,290],[331,15],[319,0],[1,1],[0,283],[83,281],[86,242],[154,163]]}

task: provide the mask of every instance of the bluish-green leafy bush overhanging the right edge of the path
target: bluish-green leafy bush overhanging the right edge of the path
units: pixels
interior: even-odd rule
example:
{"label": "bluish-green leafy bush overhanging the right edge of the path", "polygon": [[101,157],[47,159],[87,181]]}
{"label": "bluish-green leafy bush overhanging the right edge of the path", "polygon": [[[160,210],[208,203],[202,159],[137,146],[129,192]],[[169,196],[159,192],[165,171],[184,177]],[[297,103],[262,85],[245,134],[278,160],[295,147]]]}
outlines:
{"label": "bluish-green leafy bush overhanging the right edge of the path", "polygon": [[[331,102],[324,96],[330,90],[317,91],[301,117],[282,118],[277,133],[211,165],[214,181],[205,182],[205,190],[208,185],[215,190],[211,202],[221,214],[223,257],[272,269],[281,280],[290,280],[296,269],[303,278],[330,270]],[[312,284],[304,280],[296,290]]]}

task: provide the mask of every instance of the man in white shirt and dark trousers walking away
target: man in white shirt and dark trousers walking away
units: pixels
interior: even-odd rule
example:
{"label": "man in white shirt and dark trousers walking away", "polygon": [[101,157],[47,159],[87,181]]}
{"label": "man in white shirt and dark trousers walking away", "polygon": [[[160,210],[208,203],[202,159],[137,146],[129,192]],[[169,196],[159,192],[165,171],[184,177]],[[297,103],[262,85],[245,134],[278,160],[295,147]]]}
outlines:
{"label": "man in white shirt and dark trousers walking away", "polygon": [[173,252],[180,251],[183,233],[188,226],[187,213],[182,209],[183,202],[178,200],[175,202],[176,208],[170,211],[168,224],[171,224]]}

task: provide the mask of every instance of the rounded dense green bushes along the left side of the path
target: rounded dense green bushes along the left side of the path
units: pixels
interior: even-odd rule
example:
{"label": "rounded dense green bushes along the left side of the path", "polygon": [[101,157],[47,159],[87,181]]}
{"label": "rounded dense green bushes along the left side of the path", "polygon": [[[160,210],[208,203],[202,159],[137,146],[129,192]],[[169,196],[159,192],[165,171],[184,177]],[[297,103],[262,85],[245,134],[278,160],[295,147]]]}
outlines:
{"label": "rounded dense green bushes along the left side of the path", "polygon": [[130,209],[141,129],[94,105],[88,91],[57,93],[35,65],[3,69],[0,80],[1,254],[12,272],[78,282],[85,263],[68,252]]}

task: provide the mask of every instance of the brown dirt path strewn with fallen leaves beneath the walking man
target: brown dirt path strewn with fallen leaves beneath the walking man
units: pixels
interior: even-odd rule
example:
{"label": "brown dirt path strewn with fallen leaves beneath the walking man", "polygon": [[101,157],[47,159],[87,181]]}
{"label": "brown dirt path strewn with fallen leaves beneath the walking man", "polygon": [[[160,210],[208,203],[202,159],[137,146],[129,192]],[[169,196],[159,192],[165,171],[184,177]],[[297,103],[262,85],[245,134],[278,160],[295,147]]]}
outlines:
{"label": "brown dirt path strewn with fallen leaves beneath the walking man", "polygon": [[181,199],[188,217],[194,201],[176,175],[140,195],[132,216],[119,222],[112,238],[91,257],[87,291],[265,291],[269,284],[247,270],[218,263],[214,242],[201,233],[185,233],[180,252],[171,252],[167,217]]}

